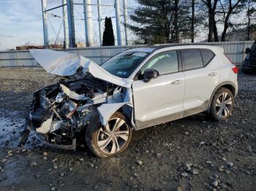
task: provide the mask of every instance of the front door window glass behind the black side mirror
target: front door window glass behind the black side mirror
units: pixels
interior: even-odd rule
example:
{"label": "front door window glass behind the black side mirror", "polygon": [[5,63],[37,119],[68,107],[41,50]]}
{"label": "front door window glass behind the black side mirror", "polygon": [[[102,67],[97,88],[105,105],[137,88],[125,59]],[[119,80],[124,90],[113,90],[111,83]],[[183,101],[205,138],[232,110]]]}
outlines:
{"label": "front door window glass behind the black side mirror", "polygon": [[159,71],[159,74],[170,74],[178,71],[178,57],[176,51],[162,52],[151,58],[143,69],[141,69],[141,74],[146,69],[155,69]]}

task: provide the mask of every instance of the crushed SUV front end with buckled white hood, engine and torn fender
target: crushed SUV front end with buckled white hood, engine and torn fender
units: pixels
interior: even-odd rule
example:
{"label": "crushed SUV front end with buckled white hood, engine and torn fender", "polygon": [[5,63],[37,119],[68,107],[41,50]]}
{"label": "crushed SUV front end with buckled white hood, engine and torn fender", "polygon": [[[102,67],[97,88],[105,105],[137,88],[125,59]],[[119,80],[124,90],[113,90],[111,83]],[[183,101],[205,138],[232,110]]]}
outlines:
{"label": "crushed SUV front end with buckled white hood, engine and torn fender", "polygon": [[26,144],[30,131],[35,130],[48,146],[75,149],[92,117],[99,117],[102,125],[107,125],[118,109],[130,115],[127,117],[132,124],[131,80],[113,76],[82,56],[52,50],[30,52],[60,81],[34,93],[20,146]]}

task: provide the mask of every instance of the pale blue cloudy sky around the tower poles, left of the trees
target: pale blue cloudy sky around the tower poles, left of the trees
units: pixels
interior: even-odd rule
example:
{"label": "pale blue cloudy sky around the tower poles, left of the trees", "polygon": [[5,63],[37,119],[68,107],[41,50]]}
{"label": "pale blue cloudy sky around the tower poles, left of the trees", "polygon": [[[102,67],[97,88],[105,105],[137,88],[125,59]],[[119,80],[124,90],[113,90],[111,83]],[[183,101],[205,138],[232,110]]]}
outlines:
{"label": "pale blue cloudy sky around the tower poles, left of the trees", "polygon": [[[120,9],[122,14],[122,0]],[[61,4],[62,0],[48,0],[48,9]],[[82,3],[83,0],[74,0],[75,3]],[[91,4],[97,4],[97,0],[91,0]],[[102,4],[114,4],[114,0],[102,0]],[[132,8],[138,6],[135,0],[127,0],[128,14]],[[54,17],[53,15],[57,15]],[[79,42],[85,41],[85,30],[83,22],[83,6],[75,5],[75,34]],[[102,18],[114,17],[113,7],[102,7]],[[92,7],[94,42],[99,44],[99,28],[97,23],[97,7]],[[48,13],[48,36],[50,42],[63,41],[64,32],[62,22],[62,9],[55,9]],[[123,17],[121,17],[123,21]],[[116,36],[116,20],[112,19],[113,30]],[[42,33],[42,3],[41,0],[0,0],[0,50],[15,49],[16,46],[24,44],[43,44]],[[104,30],[104,21],[102,21]],[[122,38],[124,42],[124,27],[122,26]],[[129,41],[135,38],[129,31]]]}

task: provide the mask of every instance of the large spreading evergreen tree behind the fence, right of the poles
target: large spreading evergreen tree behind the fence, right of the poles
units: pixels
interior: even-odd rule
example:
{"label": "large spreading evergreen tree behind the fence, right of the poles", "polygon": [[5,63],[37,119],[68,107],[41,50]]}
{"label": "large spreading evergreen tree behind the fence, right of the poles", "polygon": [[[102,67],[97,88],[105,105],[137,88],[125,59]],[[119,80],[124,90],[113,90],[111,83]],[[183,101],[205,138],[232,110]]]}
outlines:
{"label": "large spreading evergreen tree behind the fence, right of the poles", "polygon": [[170,15],[173,16],[174,4],[171,1],[137,0],[139,7],[130,15],[135,25],[129,25],[140,38],[141,43],[170,42]]}

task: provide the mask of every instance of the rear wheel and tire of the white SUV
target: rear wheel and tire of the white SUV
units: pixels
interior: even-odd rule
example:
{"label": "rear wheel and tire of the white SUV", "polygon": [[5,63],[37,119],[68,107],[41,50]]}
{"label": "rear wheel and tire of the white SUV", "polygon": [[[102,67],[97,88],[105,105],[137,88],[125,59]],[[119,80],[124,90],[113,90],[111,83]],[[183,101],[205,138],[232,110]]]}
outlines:
{"label": "rear wheel and tire of the white SUV", "polygon": [[219,88],[211,101],[210,114],[214,120],[227,120],[231,116],[234,106],[234,95],[225,87]]}

